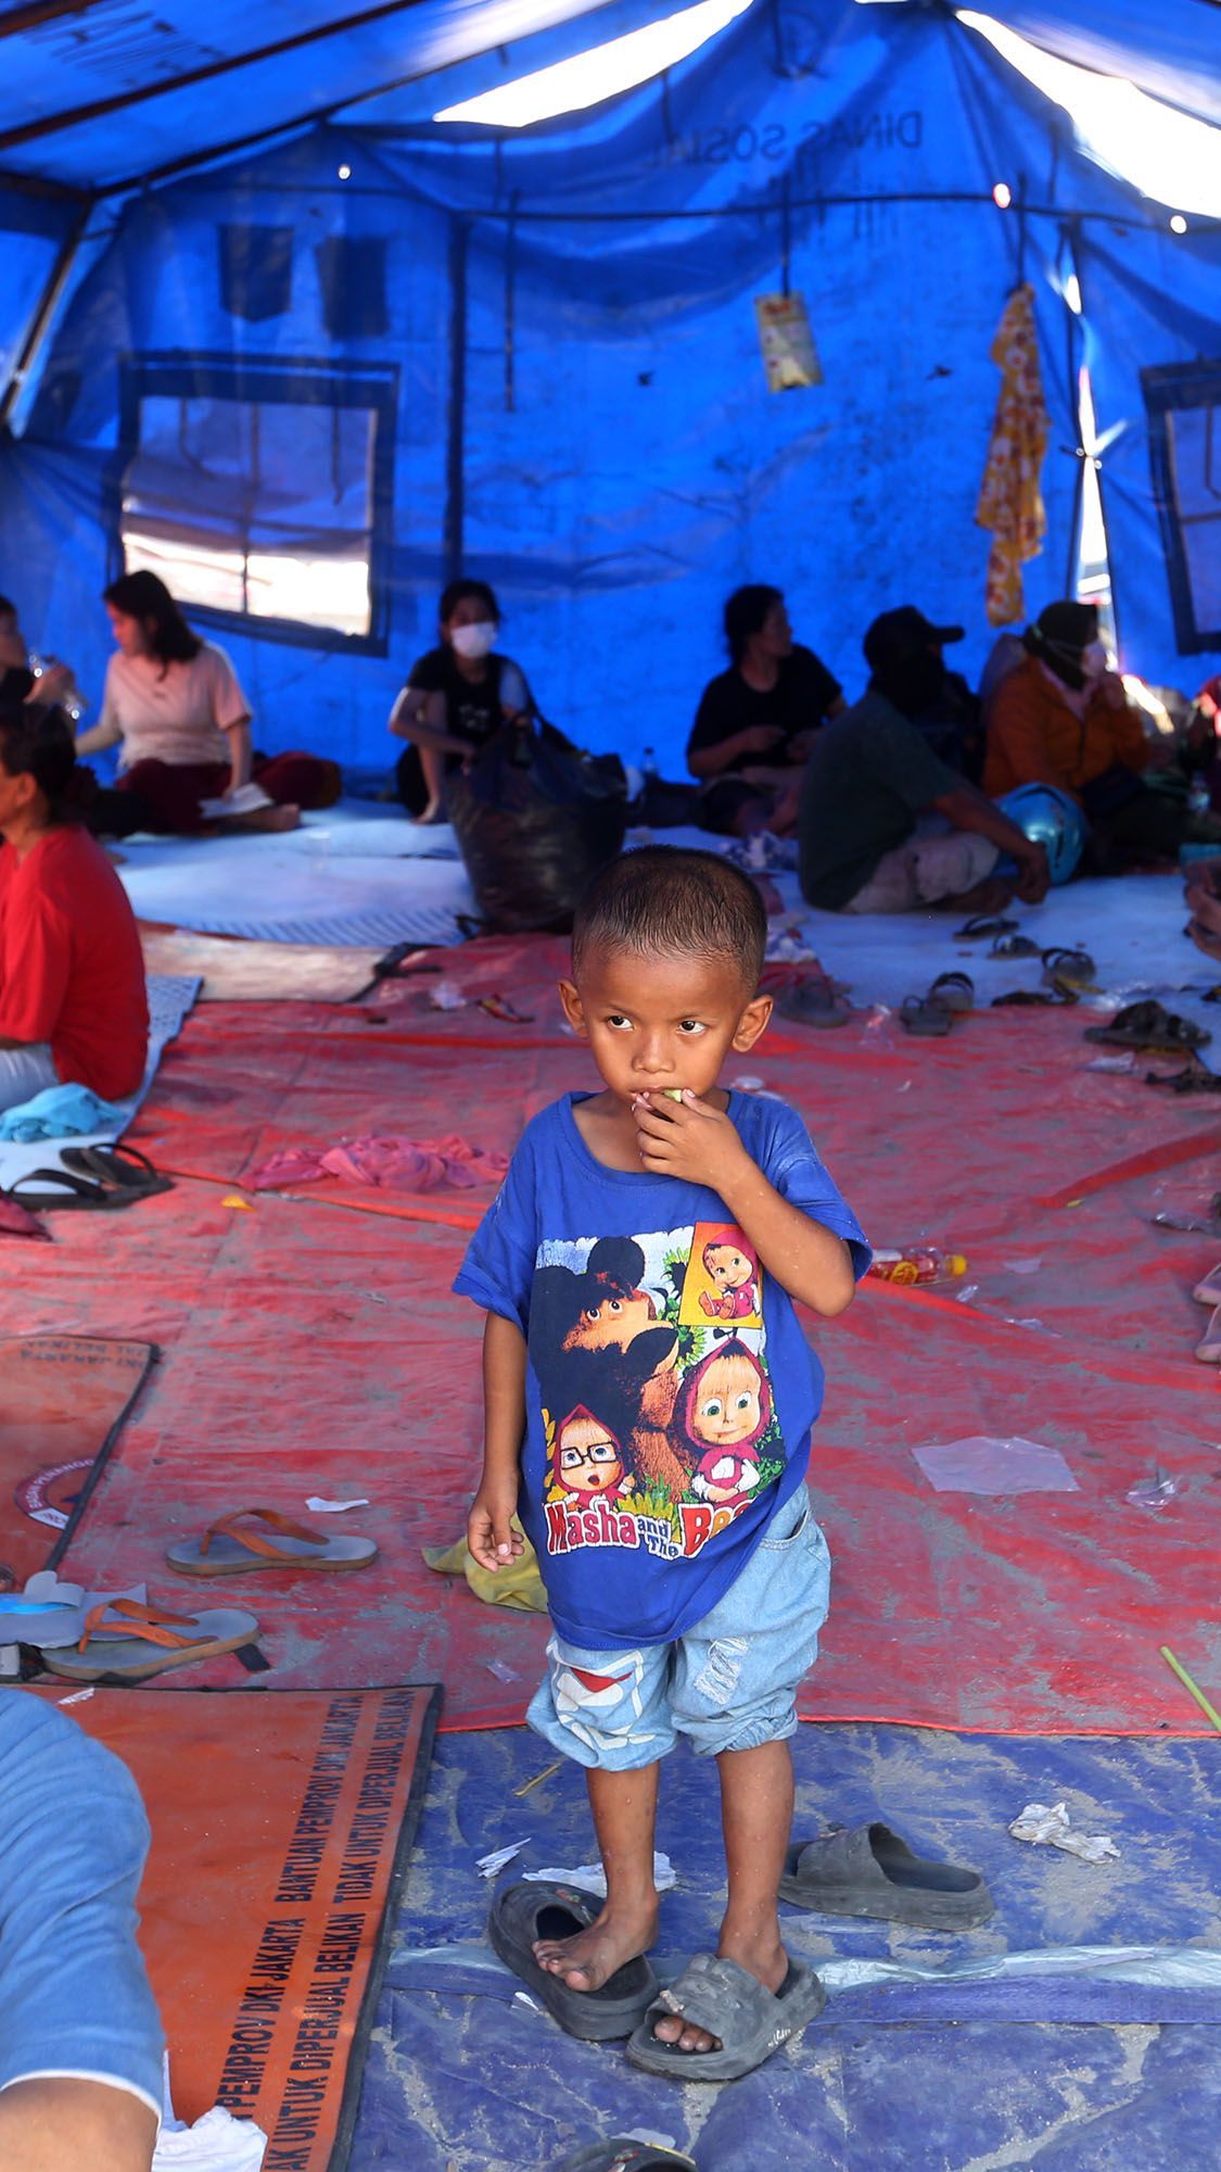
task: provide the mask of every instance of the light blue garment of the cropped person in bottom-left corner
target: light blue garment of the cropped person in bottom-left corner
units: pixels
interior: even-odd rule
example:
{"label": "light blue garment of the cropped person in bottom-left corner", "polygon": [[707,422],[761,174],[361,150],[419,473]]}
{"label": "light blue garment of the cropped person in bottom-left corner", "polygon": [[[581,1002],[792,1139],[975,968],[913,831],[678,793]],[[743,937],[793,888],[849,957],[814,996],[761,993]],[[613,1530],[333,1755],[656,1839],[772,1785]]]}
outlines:
{"label": "light blue garment of the cropped person in bottom-left corner", "polygon": [[124,1764],[0,1690],[0,2089],[74,2076],[161,2118],[165,2037],[135,1942],[148,1818]]}

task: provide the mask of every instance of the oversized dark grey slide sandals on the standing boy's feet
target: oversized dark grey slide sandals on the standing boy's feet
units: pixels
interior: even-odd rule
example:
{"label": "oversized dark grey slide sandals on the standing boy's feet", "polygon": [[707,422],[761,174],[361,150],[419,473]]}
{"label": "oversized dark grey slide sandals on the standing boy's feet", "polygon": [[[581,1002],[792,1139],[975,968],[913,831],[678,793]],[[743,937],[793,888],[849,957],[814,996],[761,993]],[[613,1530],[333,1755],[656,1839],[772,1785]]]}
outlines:
{"label": "oversized dark grey slide sandals on the standing boy's feet", "polygon": [[[495,1896],[489,1940],[567,2035],[587,2044],[628,2037],[628,2059],[645,2074],[739,2081],[800,2035],[826,2003],[819,1979],[804,1961],[791,1961],[780,1990],[769,1992],[750,1970],[710,1953],[697,1953],[665,1990],[645,1955],[637,1955],[597,1992],[574,1992],[563,1977],[539,1966],[534,1942],[576,1937],[597,1920],[600,1909],[600,1896],[576,1885],[519,1881]],[[663,2044],[654,2024],[674,2016],[719,2037],[719,2048],[691,2053]]]}

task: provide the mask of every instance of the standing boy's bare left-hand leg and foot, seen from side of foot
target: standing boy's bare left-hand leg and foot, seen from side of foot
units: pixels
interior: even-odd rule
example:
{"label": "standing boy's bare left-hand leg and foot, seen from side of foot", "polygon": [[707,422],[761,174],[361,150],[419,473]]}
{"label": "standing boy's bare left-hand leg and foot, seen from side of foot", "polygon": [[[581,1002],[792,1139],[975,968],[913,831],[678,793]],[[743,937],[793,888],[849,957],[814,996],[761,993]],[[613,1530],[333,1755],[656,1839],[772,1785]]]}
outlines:
{"label": "standing boy's bare left-hand leg and foot, seen from side of foot", "polygon": [[541,1937],[534,1946],[539,1968],[563,1977],[569,1992],[597,1992],[624,1961],[647,1953],[656,1937],[658,1766],[639,1766],[634,1772],[604,1772],[593,1766],[584,1779],[606,1870],[606,1905],[589,1931],[578,1931],[576,1937]]}

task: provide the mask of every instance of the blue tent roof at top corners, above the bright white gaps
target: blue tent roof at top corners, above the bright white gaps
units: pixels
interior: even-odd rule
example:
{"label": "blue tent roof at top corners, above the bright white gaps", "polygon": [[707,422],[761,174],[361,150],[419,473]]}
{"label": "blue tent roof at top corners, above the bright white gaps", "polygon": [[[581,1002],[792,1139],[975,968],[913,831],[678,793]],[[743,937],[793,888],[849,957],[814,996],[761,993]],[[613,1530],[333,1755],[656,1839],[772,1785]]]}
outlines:
{"label": "blue tent roof at top corners, above the bright white gaps", "polygon": [[[0,7],[0,174],[115,189],[378,102],[610,0],[26,0]],[[917,4],[917,0],[912,0]],[[986,7],[986,0],[982,0]],[[647,13],[665,13],[665,0]],[[1221,119],[1221,0],[997,0],[1023,37]],[[597,39],[593,33],[591,41]],[[547,54],[552,59],[554,54]],[[515,54],[517,61],[517,54]],[[530,46],[521,67],[537,65]],[[382,106],[387,111],[387,106]],[[393,126],[393,122],[391,122]]]}

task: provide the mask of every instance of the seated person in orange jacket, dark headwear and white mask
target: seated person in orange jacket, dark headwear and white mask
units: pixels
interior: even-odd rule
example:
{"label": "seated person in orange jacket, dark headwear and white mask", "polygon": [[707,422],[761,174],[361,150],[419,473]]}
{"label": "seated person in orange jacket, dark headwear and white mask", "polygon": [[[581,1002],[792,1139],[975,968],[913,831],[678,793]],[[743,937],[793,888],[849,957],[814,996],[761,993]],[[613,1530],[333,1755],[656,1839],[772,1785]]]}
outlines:
{"label": "seated person in orange jacket, dark headwear and white mask", "polygon": [[1095,604],[1047,604],[1025,628],[1025,656],[989,706],[984,791],[1056,784],[1091,823],[1099,871],[1156,856],[1178,858],[1188,838],[1221,841],[1221,825],[1193,817],[1182,793],[1156,791],[1149,771],[1171,769],[1173,745],[1151,747],[1108,671]]}

